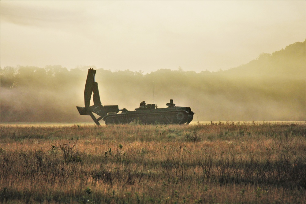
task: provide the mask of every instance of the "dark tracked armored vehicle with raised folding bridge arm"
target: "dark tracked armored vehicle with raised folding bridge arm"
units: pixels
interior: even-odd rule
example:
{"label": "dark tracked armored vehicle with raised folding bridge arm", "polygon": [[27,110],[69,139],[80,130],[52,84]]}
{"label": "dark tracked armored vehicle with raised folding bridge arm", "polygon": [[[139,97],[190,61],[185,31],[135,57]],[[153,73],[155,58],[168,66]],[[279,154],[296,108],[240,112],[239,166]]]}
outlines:
{"label": "dark tracked armored vehicle with raised folding bridge arm", "polygon": [[[102,106],[95,74],[96,70],[88,69],[84,91],[85,107],[76,106],[76,108],[80,115],[91,116],[97,125],[100,125],[101,119],[105,124],[125,124],[133,121],[141,121],[143,124],[189,124],[193,119],[194,112],[189,107],[175,106],[172,99],[166,104],[167,108],[157,108],[154,103],[147,105],[141,103],[139,108],[132,111],[119,109],[118,105]],[[90,106],[92,92],[94,105]],[[96,118],[93,113],[100,117]]]}

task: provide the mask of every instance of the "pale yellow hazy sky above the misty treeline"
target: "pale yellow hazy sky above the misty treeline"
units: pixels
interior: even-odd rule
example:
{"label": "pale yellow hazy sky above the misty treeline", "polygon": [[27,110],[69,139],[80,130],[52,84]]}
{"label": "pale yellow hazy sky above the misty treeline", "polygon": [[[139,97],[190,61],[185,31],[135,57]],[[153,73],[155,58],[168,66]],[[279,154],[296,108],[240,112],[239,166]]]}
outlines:
{"label": "pale yellow hazy sky above the misty treeline", "polygon": [[0,65],[237,67],[306,38],[306,1],[0,1]]}

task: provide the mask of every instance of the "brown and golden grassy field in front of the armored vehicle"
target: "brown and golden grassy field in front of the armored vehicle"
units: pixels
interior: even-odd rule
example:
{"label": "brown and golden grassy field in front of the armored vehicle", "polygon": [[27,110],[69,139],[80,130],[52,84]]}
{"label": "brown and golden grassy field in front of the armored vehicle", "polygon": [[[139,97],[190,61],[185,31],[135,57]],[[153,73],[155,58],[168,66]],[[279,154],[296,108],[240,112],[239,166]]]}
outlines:
{"label": "brown and golden grassy field in front of the armored vehicle", "polygon": [[306,124],[1,125],[1,203],[306,203]]}

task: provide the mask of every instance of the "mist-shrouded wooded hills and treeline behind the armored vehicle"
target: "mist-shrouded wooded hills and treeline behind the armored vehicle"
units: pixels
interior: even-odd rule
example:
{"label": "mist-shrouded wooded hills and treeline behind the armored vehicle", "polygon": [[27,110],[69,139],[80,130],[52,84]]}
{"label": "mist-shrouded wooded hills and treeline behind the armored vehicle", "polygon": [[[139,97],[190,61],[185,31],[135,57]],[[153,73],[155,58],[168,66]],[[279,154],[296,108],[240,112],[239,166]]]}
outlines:
{"label": "mist-shrouded wooded hills and treeline behind the armored vehicle", "polygon": [[[84,106],[88,68],[1,68],[1,122],[91,121],[76,109]],[[226,71],[97,69],[96,81],[102,104],[119,109],[153,99],[162,108],[174,99],[191,107],[194,121],[305,121],[305,41]]]}

